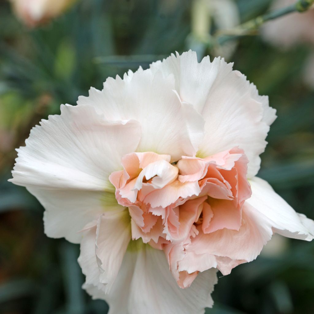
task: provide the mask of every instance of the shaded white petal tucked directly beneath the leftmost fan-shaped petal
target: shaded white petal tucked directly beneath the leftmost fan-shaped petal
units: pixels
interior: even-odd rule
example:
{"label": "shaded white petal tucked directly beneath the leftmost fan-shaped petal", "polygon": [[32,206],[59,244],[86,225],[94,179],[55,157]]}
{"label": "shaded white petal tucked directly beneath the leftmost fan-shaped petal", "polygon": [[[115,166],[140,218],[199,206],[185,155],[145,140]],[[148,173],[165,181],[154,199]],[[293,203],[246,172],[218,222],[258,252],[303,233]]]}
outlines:
{"label": "shaded white petal tucked directly beneath the leftmost fan-shaped petal", "polygon": [[89,222],[98,219],[103,212],[119,212],[120,206],[111,192],[47,190],[27,188],[46,209],[44,212],[45,233],[51,238],[65,237],[68,241],[79,243],[79,232]]}

